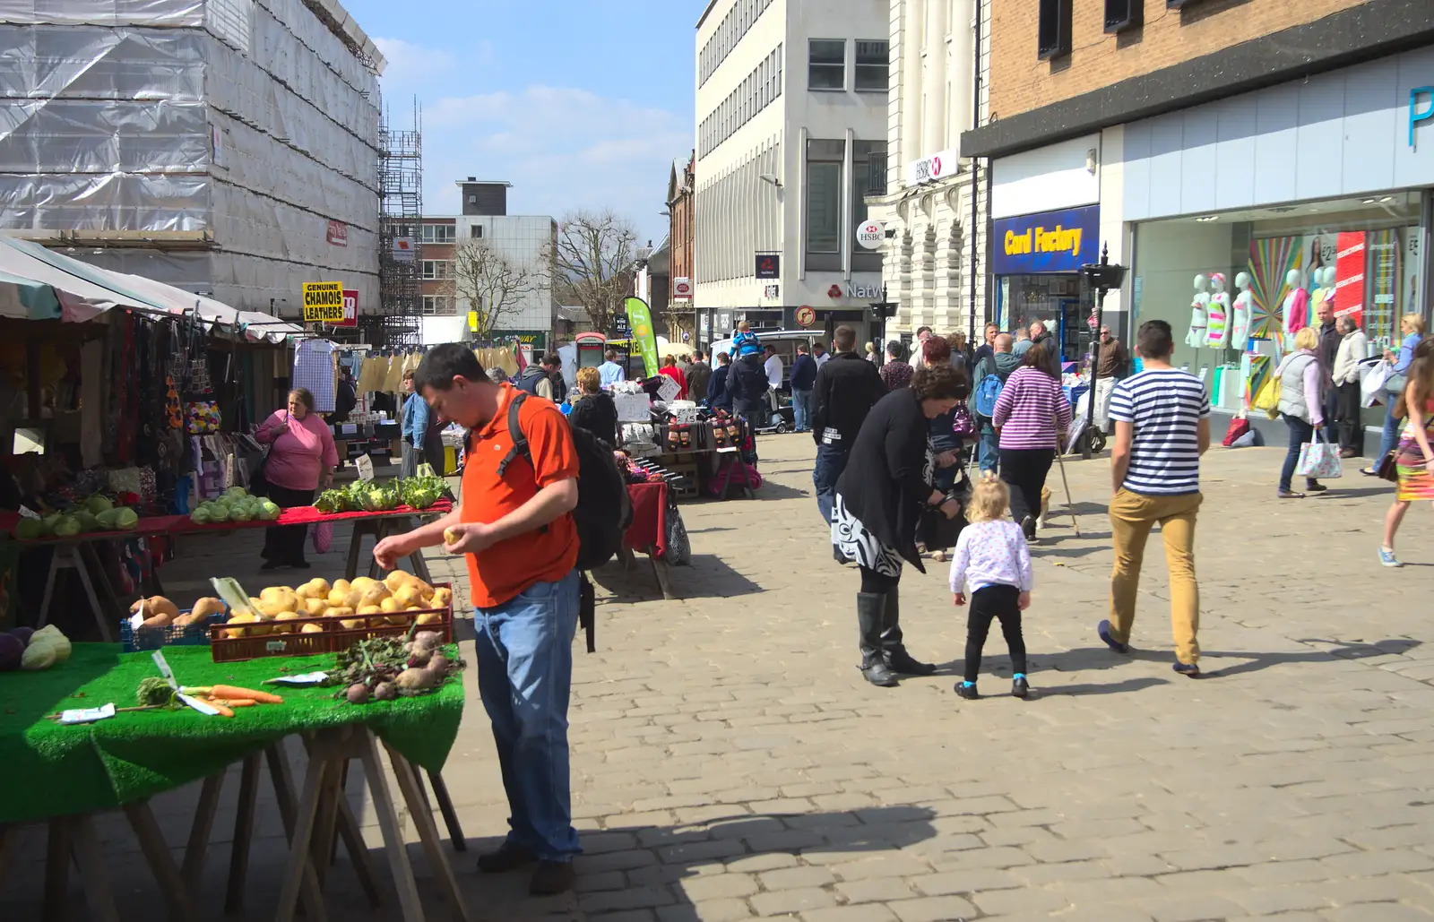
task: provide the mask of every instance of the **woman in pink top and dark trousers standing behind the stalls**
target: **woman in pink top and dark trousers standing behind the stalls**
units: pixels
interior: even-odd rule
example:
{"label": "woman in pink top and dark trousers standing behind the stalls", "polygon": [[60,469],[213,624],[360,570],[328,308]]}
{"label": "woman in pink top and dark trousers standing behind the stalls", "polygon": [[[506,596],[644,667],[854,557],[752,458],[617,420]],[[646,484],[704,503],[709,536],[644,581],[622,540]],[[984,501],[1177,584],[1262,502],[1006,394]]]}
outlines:
{"label": "woman in pink top and dark trousers standing behind the stalls", "polygon": [[[288,391],[288,409],[277,410],[254,433],[254,439],[270,446],[264,462],[268,496],[281,509],[308,506],[314,490],[334,485],[338,449],[328,423],[314,413],[314,394],[304,387]],[[307,525],[271,526],[264,533],[264,566],[275,569],[293,566],[308,569],[304,559]]]}

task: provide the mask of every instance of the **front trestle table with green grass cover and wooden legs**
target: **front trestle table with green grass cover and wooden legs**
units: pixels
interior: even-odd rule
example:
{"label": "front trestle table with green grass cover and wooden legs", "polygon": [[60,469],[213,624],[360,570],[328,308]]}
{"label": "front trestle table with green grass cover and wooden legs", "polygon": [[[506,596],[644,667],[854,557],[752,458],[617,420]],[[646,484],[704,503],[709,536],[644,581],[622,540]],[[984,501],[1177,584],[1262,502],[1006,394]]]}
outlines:
{"label": "front trestle table with green grass cover and wooden legs", "polygon": [[[284,673],[333,667],[331,654],[217,664],[204,647],[171,647],[165,657],[179,683],[189,685],[225,683],[258,688],[265,678]],[[282,704],[238,708],[232,718],[206,717],[189,708],[119,713],[80,726],[60,726],[46,718],[66,708],[106,703],[129,705],[139,681],[152,675],[156,668],[149,654],[122,654],[110,644],[75,644],[70,660],[47,671],[0,675],[0,764],[13,777],[24,779],[24,784],[0,789],[0,855],[19,824],[49,823],[46,918],[60,911],[70,847],[92,911],[99,918],[116,918],[92,822],[96,812],[116,807],[128,814],[171,913],[195,918],[184,882],[194,882],[202,868],[218,802],[218,786],[211,780],[222,777],[229,764],[242,761],[241,810],[231,862],[232,902],[235,888],[242,889],[252,832],[252,809],[248,810],[248,829],[242,827],[247,813],[242,803],[245,794],[252,799],[262,754],[270,759],[294,859],[287,863],[277,918],[291,919],[301,895],[307,918],[323,918],[320,885],[336,827],[360,879],[367,876],[363,840],[340,789],[347,760],[360,759],[393,869],[400,918],[404,922],[422,919],[423,908],[379,757],[380,741],[390,754],[404,803],[445,896],[456,918],[467,918],[414,769],[419,766],[430,773],[442,769],[462,720],[462,681],[450,680],[427,695],[363,705],[336,703],[333,688],[284,688],[280,693]],[[285,737],[295,734],[304,737],[310,750],[297,803],[281,747]],[[206,783],[181,875],[159,836],[148,799],[201,779]],[[370,892],[370,898],[374,899],[376,892]]]}

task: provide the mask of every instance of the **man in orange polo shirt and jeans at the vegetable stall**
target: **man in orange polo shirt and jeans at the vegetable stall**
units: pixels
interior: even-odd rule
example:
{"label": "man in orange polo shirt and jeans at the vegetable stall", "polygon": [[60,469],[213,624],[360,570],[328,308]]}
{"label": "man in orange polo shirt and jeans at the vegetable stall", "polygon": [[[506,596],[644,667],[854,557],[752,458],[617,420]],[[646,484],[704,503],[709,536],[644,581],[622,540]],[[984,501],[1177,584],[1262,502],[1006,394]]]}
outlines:
{"label": "man in orange polo shirt and jeans at the vegetable stall", "polygon": [[[473,353],[457,343],[429,351],[413,383],[440,419],[470,430],[462,503],[432,525],[384,538],[373,555],[384,569],[440,543],[467,556],[478,690],[493,724],[511,812],[508,839],[478,866],[502,872],[536,860],[529,890],[559,893],[572,888],[572,857],[581,850],[568,777],[578,628],[572,433],[552,401],[529,396],[518,424],[532,460],[512,457],[508,407],[519,391],[489,381]],[[452,542],[445,532],[453,532]]]}

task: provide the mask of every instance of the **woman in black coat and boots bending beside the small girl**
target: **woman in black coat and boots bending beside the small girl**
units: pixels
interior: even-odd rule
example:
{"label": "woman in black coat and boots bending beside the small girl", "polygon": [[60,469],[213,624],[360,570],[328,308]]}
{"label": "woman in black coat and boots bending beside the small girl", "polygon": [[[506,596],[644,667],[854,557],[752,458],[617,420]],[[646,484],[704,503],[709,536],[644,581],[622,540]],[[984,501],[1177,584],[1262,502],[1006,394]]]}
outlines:
{"label": "woman in black coat and boots bending beside the small girl", "polygon": [[862,675],[873,685],[895,685],[898,674],[936,671],[902,644],[896,585],[903,559],[926,572],[916,552],[922,509],[939,508],[952,519],[961,512],[959,503],[932,486],[928,426],[949,413],[964,393],[965,376],[949,364],[918,369],[911,387],[886,394],[866,414],[836,482],[832,543],[862,569],[856,622]]}

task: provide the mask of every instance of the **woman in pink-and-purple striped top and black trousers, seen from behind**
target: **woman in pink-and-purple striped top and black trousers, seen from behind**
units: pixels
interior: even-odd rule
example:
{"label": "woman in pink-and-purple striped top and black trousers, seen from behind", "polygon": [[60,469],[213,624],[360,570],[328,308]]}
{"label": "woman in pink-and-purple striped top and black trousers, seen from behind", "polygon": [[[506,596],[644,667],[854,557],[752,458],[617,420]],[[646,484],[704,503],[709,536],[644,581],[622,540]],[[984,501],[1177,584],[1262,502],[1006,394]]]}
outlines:
{"label": "woman in pink-and-purple striped top and black trousers, seen from behind", "polygon": [[1001,479],[1011,486],[1011,518],[1027,541],[1035,541],[1041,488],[1055,452],[1065,445],[1071,404],[1058,377],[1047,369],[1047,346],[1025,350],[995,401],[995,430],[1001,442]]}

